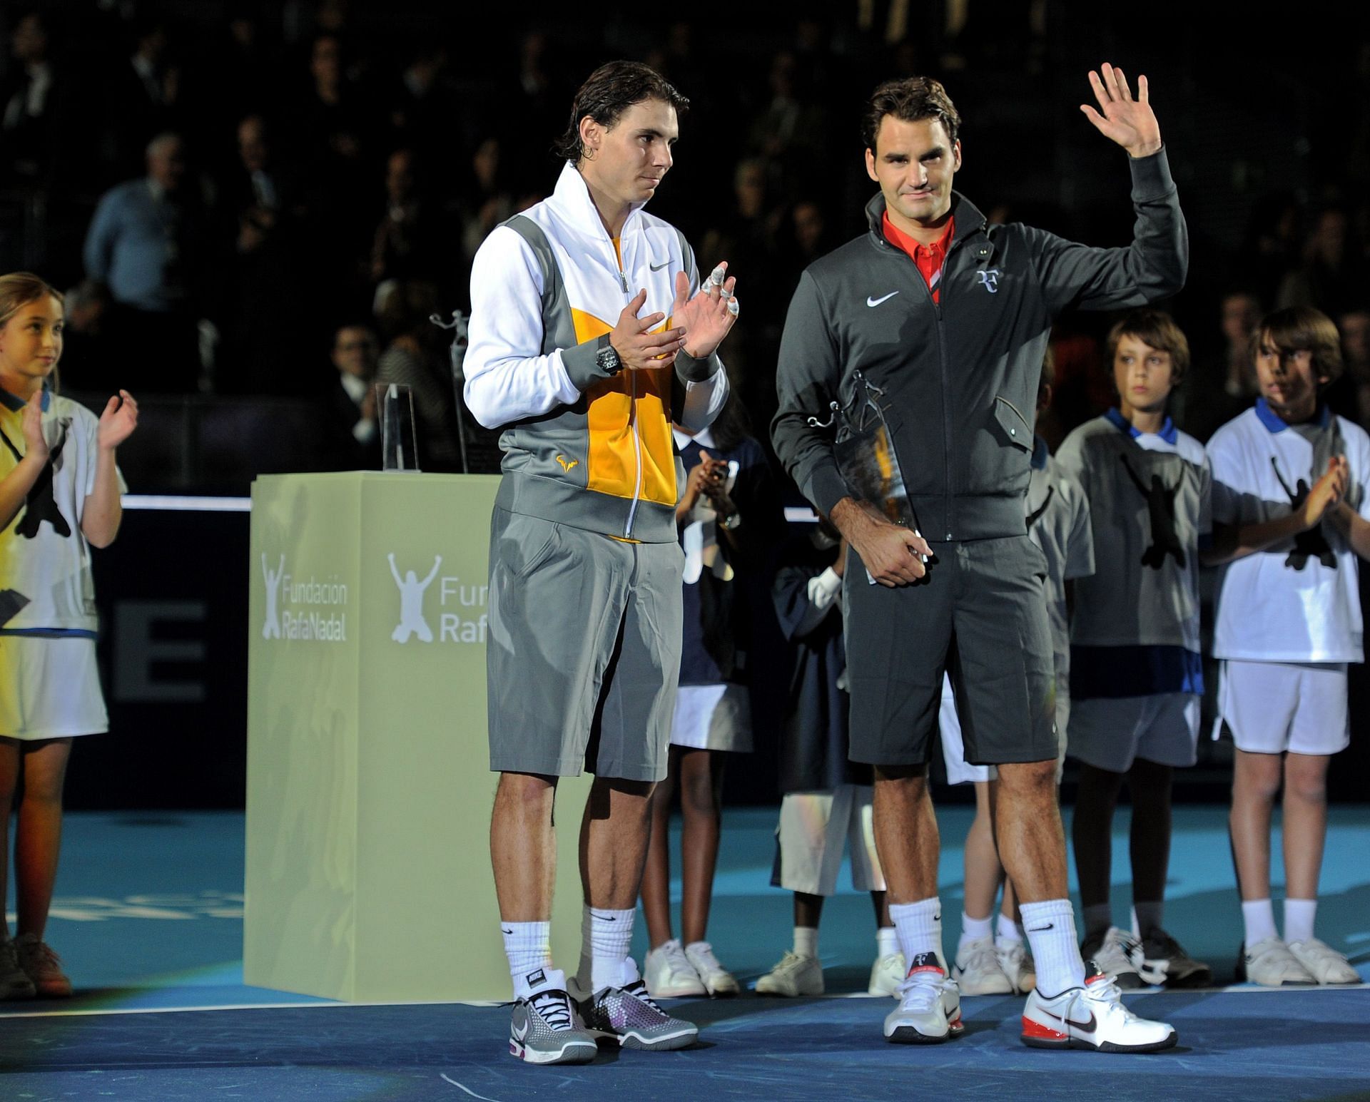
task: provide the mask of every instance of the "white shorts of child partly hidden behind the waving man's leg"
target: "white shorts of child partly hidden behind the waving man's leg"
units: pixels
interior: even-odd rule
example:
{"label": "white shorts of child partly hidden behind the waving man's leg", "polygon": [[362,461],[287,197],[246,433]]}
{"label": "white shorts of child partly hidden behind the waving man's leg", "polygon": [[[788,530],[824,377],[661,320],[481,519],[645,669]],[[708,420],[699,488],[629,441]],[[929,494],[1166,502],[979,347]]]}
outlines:
{"label": "white shorts of child partly hidden behind the waving man's leg", "polygon": [[856,891],[884,891],[885,877],[875,856],[871,798],[869,784],[788,793],[780,804],[771,883],[806,895],[833,895],[845,842],[852,856],[852,887]]}

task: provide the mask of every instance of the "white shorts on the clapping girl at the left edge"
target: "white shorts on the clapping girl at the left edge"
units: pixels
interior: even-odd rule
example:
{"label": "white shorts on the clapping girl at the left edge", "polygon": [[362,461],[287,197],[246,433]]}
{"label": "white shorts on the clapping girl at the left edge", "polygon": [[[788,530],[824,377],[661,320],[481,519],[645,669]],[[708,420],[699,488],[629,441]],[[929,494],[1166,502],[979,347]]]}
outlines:
{"label": "white shorts on the clapping girl at the left edge", "polygon": [[0,736],[37,741],[108,730],[95,639],[0,635]]}

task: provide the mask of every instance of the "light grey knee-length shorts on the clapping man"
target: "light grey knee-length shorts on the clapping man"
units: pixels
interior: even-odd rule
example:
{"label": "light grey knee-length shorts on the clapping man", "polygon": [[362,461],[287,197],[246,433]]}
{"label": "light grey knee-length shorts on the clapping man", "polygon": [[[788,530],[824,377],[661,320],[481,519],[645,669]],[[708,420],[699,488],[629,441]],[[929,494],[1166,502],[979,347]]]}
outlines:
{"label": "light grey knee-length shorts on the clapping man", "polygon": [[678,543],[622,543],[496,507],[490,769],[660,780],[681,661]]}

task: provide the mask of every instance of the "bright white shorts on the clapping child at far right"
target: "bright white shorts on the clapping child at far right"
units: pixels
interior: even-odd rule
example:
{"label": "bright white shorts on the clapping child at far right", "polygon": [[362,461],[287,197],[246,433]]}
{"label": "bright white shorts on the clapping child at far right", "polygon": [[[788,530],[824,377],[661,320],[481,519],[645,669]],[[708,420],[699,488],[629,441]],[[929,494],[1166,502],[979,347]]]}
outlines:
{"label": "bright white shorts on the clapping child at far right", "polygon": [[1330,756],[1351,742],[1345,663],[1228,660],[1218,715],[1238,750]]}

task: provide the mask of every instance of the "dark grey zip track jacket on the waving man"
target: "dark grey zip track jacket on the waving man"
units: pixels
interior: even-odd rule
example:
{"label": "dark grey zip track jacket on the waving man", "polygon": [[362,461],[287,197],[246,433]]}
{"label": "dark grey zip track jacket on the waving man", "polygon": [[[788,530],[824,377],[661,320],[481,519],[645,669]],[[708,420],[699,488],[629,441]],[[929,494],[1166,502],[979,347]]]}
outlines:
{"label": "dark grey zip track jacket on the waving man", "polygon": [[884,389],[882,407],[910,501],[927,539],[1022,535],[1033,420],[1052,320],[1122,309],[1184,286],[1189,241],[1164,151],[1129,160],[1137,212],[1128,248],[1077,245],[1018,223],[991,226],[954,193],[956,233],[934,304],[912,259],[881,230],[815,260],[781,339],[780,412],[771,439],[823,515],[851,491],[832,445],[829,402],[854,396],[854,372]]}

